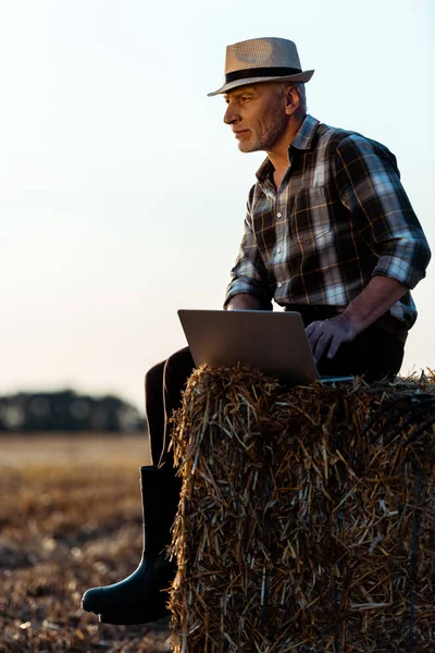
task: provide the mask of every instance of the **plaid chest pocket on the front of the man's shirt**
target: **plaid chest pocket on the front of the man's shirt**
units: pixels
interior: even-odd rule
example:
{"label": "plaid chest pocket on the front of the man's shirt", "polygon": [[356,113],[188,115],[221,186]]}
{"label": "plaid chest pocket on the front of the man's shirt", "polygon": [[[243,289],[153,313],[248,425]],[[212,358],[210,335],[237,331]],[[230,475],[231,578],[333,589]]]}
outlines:
{"label": "plaid chest pocket on the front of the man's shirt", "polygon": [[290,213],[291,238],[314,243],[332,229],[333,201],[327,186],[304,188],[294,197]]}

